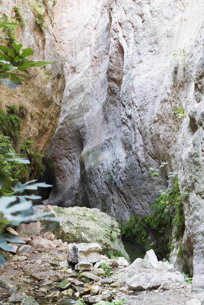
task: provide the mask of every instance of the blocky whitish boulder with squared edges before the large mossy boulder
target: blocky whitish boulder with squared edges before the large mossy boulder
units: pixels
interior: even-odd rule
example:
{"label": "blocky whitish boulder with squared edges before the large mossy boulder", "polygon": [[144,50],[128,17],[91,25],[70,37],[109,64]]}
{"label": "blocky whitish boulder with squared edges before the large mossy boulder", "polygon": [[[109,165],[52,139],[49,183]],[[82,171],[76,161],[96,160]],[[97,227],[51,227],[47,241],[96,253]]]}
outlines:
{"label": "blocky whitish boulder with squared edges before the large mossy boulder", "polygon": [[70,263],[81,261],[95,263],[101,260],[99,251],[102,251],[102,248],[98,243],[70,243],[67,247],[67,260]]}

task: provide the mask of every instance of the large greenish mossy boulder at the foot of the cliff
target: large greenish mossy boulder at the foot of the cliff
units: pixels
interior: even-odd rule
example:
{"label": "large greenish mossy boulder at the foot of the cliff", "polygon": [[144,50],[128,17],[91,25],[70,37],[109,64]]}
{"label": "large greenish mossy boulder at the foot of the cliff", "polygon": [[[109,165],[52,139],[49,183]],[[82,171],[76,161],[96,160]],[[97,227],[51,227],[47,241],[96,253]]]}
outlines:
{"label": "large greenish mossy boulder at the foot of the cliff", "polygon": [[[44,212],[51,212],[59,222],[42,221],[44,231],[51,231],[63,242],[97,242],[103,251],[130,258],[121,241],[121,232],[116,220],[99,209],[86,207],[60,208],[47,205]],[[120,251],[120,252],[118,252]]]}

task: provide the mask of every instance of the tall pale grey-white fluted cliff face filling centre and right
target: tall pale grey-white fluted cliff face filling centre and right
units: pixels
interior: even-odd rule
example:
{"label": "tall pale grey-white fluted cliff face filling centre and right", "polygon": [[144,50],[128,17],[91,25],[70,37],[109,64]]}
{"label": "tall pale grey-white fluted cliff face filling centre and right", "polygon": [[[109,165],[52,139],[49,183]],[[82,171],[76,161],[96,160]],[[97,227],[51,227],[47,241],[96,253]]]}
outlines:
{"label": "tall pale grey-white fluted cliff face filling centre and right", "polygon": [[[120,221],[151,213],[167,172],[178,169],[190,194],[179,264],[193,270],[195,293],[204,282],[203,8],[202,0],[58,0],[66,87],[46,154],[55,176],[49,203],[103,202]],[[148,168],[161,162],[167,169],[152,180]]]}

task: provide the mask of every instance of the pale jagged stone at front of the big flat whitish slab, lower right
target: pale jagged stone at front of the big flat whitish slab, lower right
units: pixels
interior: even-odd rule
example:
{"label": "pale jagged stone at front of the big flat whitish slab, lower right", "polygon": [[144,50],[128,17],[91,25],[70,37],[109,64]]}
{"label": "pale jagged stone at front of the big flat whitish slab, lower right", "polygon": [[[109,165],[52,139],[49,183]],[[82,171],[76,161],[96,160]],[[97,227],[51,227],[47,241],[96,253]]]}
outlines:
{"label": "pale jagged stone at front of the big flat whitish slab, lower right", "polygon": [[127,285],[131,290],[149,290],[156,289],[161,285],[161,280],[158,274],[139,273],[135,275],[130,281],[127,281]]}

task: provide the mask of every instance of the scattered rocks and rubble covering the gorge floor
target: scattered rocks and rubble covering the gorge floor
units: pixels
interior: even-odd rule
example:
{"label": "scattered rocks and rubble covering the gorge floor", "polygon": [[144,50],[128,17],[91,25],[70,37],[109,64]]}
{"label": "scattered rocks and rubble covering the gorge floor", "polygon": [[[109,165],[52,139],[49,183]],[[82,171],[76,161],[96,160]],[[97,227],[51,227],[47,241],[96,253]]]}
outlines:
{"label": "scattered rocks and rubble covering the gorge floor", "polygon": [[[124,304],[132,305],[150,298],[150,293],[157,299],[172,291],[183,293],[186,304],[199,304],[191,299],[191,285],[184,282],[183,275],[172,264],[158,262],[153,250],[147,251],[144,260],[138,258],[129,265],[124,257],[108,259],[98,243],[68,244],[51,232],[36,235],[41,227],[37,222],[26,224],[31,225],[36,231],[30,237],[22,236],[24,225],[17,228],[26,244],[17,247],[15,254],[7,253],[7,262],[0,268],[2,304],[57,304],[64,298],[73,302],[82,298],[101,305],[125,298]],[[109,277],[101,268],[104,263],[112,270]]]}

